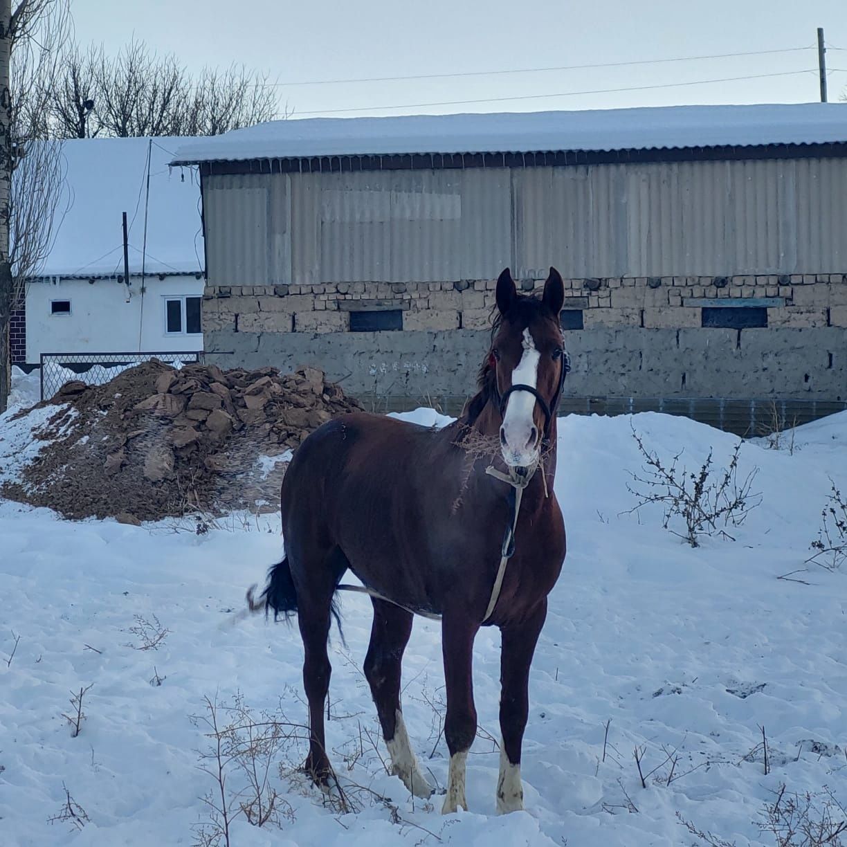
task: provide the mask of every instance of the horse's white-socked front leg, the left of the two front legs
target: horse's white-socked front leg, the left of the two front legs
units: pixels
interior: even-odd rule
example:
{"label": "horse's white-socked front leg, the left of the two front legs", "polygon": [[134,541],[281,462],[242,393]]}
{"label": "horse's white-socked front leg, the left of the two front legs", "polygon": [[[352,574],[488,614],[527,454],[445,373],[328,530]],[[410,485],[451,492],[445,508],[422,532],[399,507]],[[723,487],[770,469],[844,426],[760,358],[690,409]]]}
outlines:
{"label": "horse's white-socked front leg, the left of the two front legs", "polygon": [[468,621],[461,612],[446,613],[441,622],[441,649],[447,688],[447,714],[444,737],[450,750],[447,796],[441,814],[449,815],[459,806],[468,811],[465,799],[465,765],[468,750],[476,737],[476,706],[473,705],[473,639],[479,623]]}

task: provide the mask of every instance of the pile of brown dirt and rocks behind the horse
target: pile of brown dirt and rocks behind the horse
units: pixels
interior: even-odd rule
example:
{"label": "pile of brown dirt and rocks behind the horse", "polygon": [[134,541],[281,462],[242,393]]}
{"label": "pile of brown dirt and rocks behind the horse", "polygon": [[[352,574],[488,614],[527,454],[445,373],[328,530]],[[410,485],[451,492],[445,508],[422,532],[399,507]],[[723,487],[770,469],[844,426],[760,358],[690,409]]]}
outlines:
{"label": "pile of brown dirt and rocks behind the horse", "polygon": [[0,494],[65,518],[128,523],[279,507],[291,450],[361,408],[317,368],[175,370],[156,359],[106,385],[63,385],[35,437],[45,441]]}

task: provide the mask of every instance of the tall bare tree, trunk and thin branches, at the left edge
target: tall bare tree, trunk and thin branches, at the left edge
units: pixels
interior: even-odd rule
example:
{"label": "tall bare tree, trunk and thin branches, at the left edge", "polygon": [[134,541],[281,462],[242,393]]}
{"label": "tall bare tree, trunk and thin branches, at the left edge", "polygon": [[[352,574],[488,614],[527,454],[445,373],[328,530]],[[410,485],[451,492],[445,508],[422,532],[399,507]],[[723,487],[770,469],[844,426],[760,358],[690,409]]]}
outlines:
{"label": "tall bare tree, trunk and thin branches, at the left edge", "polygon": [[[53,220],[44,214],[44,197],[30,198],[35,205],[25,212],[28,201],[22,202],[15,188],[15,174],[30,171],[23,178],[30,191],[38,185],[36,170],[44,180],[57,174],[61,150],[39,148],[37,140],[47,136],[58,55],[69,32],[69,0],[18,0],[14,8],[11,0],[0,0],[0,412],[11,380],[12,310],[26,274],[46,255],[50,238],[44,229]],[[19,220],[19,213],[29,223]],[[30,237],[32,243],[25,245]]]}

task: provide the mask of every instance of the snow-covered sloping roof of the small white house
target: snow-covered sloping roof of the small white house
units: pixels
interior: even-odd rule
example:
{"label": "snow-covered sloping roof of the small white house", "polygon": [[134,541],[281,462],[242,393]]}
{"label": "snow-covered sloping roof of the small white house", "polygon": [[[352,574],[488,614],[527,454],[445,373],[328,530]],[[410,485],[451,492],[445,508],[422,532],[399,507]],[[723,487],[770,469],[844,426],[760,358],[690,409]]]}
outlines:
{"label": "snow-covered sloping roof of the small white house", "polygon": [[141,274],[142,254],[147,274],[200,273],[203,241],[197,177],[191,169],[169,164],[176,148],[185,141],[194,139],[152,139],[146,251],[144,212],[150,139],[62,142],[64,197],[53,224],[53,244],[38,275],[123,274],[123,212],[129,227],[130,274]]}

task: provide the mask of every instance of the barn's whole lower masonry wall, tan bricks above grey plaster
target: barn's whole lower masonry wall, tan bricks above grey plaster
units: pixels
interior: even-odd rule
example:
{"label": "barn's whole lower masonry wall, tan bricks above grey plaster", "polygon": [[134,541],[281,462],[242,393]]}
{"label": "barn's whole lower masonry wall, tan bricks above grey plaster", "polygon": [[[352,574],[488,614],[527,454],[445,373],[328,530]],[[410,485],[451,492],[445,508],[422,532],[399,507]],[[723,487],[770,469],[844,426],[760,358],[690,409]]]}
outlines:
{"label": "barn's whole lower masonry wall, tan bricks above grey plaster", "polygon": [[[532,291],[543,284],[519,285]],[[568,316],[577,319],[568,320],[573,329],[565,332],[573,360],[569,400],[847,401],[842,274],[580,279],[565,285],[565,309],[579,311]],[[720,316],[738,324],[710,318],[702,325],[704,307],[739,302],[756,309]],[[414,407],[443,400],[456,411],[473,391],[494,304],[495,280],[209,286],[203,344],[206,360],[226,368],[324,368],[377,410],[389,401]],[[403,331],[350,331],[350,314],[363,308],[399,310]],[[745,324],[742,318],[754,311],[757,318],[765,313],[767,327]]]}

